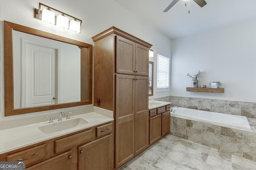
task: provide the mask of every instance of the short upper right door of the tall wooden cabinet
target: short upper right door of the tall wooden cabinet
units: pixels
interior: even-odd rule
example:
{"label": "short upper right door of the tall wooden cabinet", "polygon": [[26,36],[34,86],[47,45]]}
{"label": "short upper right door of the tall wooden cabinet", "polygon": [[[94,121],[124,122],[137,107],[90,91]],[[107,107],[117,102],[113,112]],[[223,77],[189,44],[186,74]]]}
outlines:
{"label": "short upper right door of the tall wooden cabinet", "polygon": [[136,44],[135,70],[136,75],[148,76],[148,55],[149,49]]}

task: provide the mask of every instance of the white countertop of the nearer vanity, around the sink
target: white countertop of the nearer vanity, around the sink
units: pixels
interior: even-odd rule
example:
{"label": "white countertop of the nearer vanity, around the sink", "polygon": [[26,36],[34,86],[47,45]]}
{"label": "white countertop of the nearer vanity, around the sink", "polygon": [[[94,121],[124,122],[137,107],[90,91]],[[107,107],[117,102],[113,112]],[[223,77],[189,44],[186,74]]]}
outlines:
{"label": "white countertop of the nearer vanity, around the sink", "polygon": [[[44,115],[1,121],[0,154],[114,120],[113,111],[99,107],[92,106],[71,111],[73,113],[70,114],[70,119],[82,118],[88,123],[64,131],[45,134],[38,129],[42,125],[49,124],[49,118],[44,118]],[[49,115],[53,116],[54,123],[58,123],[58,113]],[[62,118],[62,121],[68,121],[66,116]]]}

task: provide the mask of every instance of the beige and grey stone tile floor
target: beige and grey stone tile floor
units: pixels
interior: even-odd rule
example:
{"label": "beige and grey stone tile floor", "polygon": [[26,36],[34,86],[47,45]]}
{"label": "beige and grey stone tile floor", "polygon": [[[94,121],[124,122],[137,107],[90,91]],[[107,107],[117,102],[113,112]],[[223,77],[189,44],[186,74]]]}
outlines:
{"label": "beige and grey stone tile floor", "polygon": [[168,134],[119,170],[256,170],[256,162]]}

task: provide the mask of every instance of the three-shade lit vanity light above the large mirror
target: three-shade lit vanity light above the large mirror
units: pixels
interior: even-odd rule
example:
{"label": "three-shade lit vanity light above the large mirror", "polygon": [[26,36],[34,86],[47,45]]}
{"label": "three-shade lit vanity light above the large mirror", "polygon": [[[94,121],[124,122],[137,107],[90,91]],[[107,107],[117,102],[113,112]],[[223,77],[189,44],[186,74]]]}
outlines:
{"label": "three-shade lit vanity light above the large mirror", "polygon": [[38,9],[35,9],[35,18],[48,21],[66,29],[76,31],[77,33],[80,33],[80,27],[82,25],[82,20],[41,3],[39,3]]}

